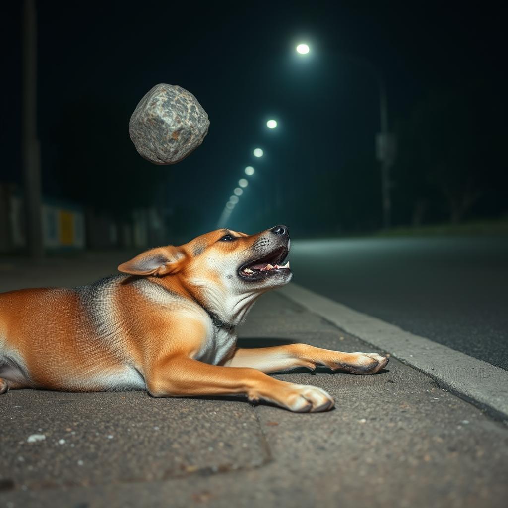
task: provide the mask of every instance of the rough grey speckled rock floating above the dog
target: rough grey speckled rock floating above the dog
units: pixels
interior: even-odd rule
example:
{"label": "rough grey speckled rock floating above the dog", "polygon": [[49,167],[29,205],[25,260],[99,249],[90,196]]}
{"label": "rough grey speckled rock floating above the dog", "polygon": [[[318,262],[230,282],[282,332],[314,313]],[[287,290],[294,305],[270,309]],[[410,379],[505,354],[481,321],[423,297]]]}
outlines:
{"label": "rough grey speckled rock floating above the dog", "polygon": [[141,99],[131,116],[136,149],[154,164],[175,164],[195,150],[210,121],[201,104],[181,86],[160,83]]}

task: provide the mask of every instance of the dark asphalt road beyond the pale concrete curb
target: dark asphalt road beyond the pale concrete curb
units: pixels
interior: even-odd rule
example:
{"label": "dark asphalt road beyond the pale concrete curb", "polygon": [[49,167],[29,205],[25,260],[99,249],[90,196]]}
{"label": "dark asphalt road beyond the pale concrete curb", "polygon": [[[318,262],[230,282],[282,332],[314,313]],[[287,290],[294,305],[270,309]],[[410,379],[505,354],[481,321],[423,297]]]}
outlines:
{"label": "dark asphalt road beyond the pale concrete curb", "polygon": [[508,238],[296,240],[293,280],[508,370]]}

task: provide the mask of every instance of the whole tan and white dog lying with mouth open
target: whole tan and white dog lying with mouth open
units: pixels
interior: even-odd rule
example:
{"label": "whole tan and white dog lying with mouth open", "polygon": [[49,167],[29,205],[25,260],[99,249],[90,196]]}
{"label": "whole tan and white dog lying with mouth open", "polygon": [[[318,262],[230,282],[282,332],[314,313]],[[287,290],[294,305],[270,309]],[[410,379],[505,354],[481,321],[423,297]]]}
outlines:
{"label": "whole tan and white dog lying with mouth open", "polygon": [[235,327],[252,304],[291,280],[283,264],[290,244],[285,226],[255,235],[217,230],[143,252],[118,267],[122,274],[80,288],[0,294],[0,394],[245,394],[291,411],[331,409],[321,388],[268,373],[326,366],[373,374],[388,358],[307,344],[236,347]]}

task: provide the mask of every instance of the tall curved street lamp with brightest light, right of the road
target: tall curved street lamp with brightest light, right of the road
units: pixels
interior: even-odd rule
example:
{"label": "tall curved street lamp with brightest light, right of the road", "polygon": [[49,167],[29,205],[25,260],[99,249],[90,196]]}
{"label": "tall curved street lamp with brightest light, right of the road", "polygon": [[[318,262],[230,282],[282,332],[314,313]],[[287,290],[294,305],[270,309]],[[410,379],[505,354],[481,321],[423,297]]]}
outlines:
{"label": "tall curved street lamp with brightest light, right of the road", "polygon": [[[299,44],[297,53],[305,57],[310,51],[307,44]],[[348,60],[354,65],[367,70],[377,83],[379,93],[379,133],[375,136],[376,158],[381,163],[382,195],[383,195],[383,226],[385,229],[392,224],[392,200],[390,169],[395,162],[397,142],[395,135],[390,133],[388,124],[388,96],[385,78],[378,69],[365,58],[341,53],[339,58]]]}

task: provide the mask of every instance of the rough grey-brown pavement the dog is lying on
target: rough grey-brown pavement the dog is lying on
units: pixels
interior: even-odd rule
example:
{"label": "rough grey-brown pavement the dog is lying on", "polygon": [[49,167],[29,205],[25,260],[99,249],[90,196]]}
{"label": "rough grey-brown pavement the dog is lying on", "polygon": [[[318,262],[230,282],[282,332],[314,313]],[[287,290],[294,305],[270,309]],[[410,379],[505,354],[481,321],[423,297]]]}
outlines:
{"label": "rough grey-brown pavement the dog is lying on", "polygon": [[[66,262],[57,272],[48,263],[35,278],[74,285],[112,264],[94,263]],[[19,281],[15,269],[4,270],[2,291]],[[30,269],[22,272],[29,280]],[[372,351],[281,293],[260,299],[239,336],[240,346]],[[505,505],[508,428],[425,374],[392,359],[371,376],[277,377],[327,390],[335,410],[11,391],[0,397],[0,506]],[[27,442],[33,434],[45,438]]]}

